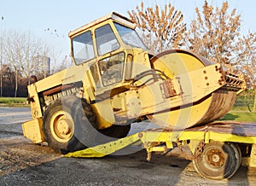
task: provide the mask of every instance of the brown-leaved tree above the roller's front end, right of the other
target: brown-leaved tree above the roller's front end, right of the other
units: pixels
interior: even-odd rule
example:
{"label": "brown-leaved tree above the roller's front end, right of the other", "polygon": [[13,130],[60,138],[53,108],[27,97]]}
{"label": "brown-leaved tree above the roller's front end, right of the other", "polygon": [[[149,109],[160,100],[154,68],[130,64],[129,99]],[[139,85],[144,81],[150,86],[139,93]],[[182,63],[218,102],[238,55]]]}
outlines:
{"label": "brown-leaved tree above the roller's front end, right of the other", "polygon": [[196,19],[191,21],[186,38],[188,49],[230,68],[230,64],[238,65],[244,59],[239,53],[241,15],[236,9],[229,13],[228,8],[228,2],[224,2],[214,11],[205,1],[202,11],[195,9]]}

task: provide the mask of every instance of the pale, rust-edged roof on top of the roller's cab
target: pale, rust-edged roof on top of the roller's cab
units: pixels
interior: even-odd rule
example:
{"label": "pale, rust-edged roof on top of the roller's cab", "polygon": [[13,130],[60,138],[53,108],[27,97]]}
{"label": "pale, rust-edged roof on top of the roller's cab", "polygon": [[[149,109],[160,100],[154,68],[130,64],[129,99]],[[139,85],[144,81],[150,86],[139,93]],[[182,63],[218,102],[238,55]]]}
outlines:
{"label": "pale, rust-edged roof on top of the roller's cab", "polygon": [[105,20],[110,20],[110,19],[117,20],[119,23],[124,24],[125,26],[129,26],[129,27],[131,27],[133,29],[136,27],[136,24],[134,22],[132,22],[130,19],[126,18],[123,15],[119,15],[116,12],[112,12],[112,13],[110,13],[108,15],[103,16],[102,18],[94,20],[94,21],[92,21],[92,22],[90,22],[90,23],[88,23],[88,24],[86,24],[84,26],[81,26],[81,27],[79,27],[79,28],[69,32],[68,33],[68,37],[71,38],[71,37],[73,37],[73,35],[75,35],[75,34],[77,34],[79,32],[83,32],[84,30],[90,28],[91,26],[96,26],[97,24],[102,23]]}

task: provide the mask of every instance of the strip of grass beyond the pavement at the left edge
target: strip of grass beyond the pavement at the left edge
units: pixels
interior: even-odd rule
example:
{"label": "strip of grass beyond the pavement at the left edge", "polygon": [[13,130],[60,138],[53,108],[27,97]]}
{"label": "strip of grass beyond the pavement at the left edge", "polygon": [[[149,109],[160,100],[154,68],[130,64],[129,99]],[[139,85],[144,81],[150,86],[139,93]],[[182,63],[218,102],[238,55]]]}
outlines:
{"label": "strip of grass beyond the pavement at the left edge", "polygon": [[0,107],[27,108],[26,97],[0,97]]}

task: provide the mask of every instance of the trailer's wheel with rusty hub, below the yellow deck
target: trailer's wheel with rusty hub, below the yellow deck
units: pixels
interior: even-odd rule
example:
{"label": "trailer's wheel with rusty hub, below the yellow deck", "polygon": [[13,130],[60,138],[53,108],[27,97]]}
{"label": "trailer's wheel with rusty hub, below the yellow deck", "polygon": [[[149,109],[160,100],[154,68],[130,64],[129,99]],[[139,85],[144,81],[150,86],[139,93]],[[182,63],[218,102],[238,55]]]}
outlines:
{"label": "trailer's wheel with rusty hub, below the yellow deck", "polygon": [[241,165],[241,150],[231,142],[207,143],[203,152],[193,160],[195,170],[210,179],[228,179]]}

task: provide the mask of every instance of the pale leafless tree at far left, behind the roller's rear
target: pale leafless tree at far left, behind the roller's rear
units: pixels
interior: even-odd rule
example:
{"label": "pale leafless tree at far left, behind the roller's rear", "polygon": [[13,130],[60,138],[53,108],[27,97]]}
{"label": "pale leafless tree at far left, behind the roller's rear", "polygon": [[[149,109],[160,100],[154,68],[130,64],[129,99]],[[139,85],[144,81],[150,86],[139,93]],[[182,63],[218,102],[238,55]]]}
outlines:
{"label": "pale leafless tree at far left, behind the roller's rear", "polygon": [[[43,64],[35,63],[38,55],[47,55],[43,42],[32,36],[30,32],[17,32],[15,30],[6,33],[3,38],[5,60],[15,70],[15,96],[18,90],[19,75],[28,79],[30,75]],[[47,51],[47,50],[46,50]]]}

